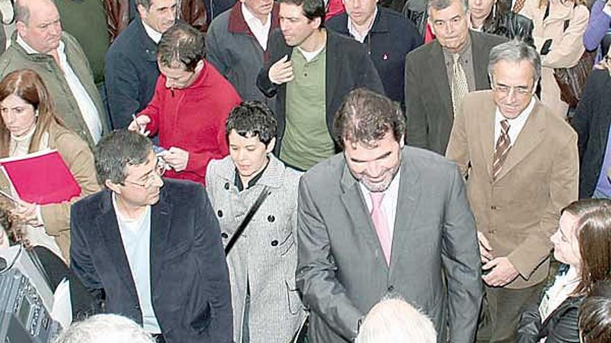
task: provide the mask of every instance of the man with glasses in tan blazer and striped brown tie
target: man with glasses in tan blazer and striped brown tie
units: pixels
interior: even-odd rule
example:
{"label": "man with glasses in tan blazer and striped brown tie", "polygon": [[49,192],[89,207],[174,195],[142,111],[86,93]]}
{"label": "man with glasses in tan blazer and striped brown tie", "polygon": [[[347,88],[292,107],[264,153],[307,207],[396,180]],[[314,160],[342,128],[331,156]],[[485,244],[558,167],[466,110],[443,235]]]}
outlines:
{"label": "man with glasses in tan blazer and striped brown tie", "polygon": [[478,342],[514,342],[521,307],[549,273],[560,209],[577,199],[577,135],[533,94],[539,53],[512,41],[490,51],[492,91],[464,97],[446,157],[467,178],[483,263]]}

